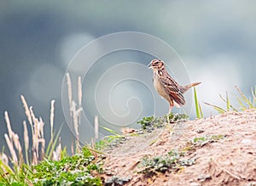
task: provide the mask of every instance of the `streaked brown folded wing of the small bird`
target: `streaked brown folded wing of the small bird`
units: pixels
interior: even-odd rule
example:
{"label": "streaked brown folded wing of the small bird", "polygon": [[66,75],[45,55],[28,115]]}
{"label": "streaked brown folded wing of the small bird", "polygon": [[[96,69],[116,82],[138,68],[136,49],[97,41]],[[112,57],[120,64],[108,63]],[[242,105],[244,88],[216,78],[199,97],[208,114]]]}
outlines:
{"label": "streaked brown folded wing of the small bird", "polygon": [[177,82],[175,82],[170,75],[160,76],[160,83],[163,85],[166,93],[169,94],[171,99],[173,99],[179,105],[185,104],[183,93],[181,93]]}

